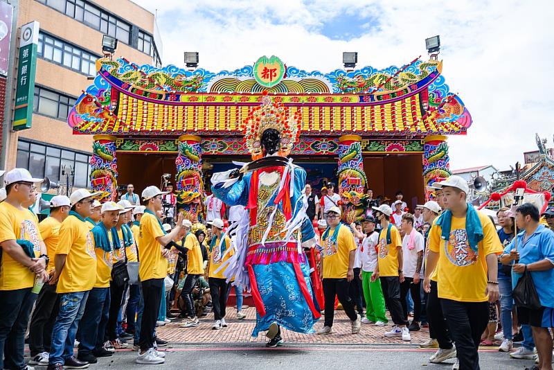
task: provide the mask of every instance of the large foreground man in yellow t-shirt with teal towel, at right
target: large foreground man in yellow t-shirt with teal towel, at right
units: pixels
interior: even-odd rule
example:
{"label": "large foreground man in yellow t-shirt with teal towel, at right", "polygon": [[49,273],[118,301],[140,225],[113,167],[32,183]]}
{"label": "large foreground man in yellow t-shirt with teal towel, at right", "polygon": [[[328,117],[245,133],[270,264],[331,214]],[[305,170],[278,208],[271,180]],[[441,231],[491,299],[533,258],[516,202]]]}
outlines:
{"label": "large foreground man in yellow t-shirt with teal towel, at right", "polygon": [[498,260],[503,251],[490,219],[467,203],[465,179],[451,176],[433,186],[443,189],[447,211],[429,231],[424,289],[437,269],[438,298],[447,320],[460,369],[479,369],[479,343],[488,324],[488,301],[497,301]]}

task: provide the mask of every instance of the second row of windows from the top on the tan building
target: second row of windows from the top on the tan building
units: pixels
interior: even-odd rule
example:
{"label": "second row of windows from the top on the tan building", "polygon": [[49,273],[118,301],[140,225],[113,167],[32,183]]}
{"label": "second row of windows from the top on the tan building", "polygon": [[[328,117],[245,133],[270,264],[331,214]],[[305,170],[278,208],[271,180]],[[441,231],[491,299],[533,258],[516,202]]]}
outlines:
{"label": "second row of windows from the top on the tan building", "polygon": [[62,64],[64,67],[73,69],[73,71],[78,71],[88,76],[96,74],[96,60],[98,56],[46,33],[39,33],[37,53],[40,57]]}

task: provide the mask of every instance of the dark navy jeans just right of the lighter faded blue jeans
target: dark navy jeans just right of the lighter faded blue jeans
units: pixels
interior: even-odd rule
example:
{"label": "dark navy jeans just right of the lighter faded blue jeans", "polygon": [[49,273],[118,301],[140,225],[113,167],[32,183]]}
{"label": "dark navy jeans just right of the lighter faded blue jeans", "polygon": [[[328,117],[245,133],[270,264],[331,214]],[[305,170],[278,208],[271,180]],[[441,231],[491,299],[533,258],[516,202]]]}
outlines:
{"label": "dark navy jeans just right of the lighter faded blue jeans", "polygon": [[102,348],[109,316],[109,288],[92,288],[79,324],[79,355]]}

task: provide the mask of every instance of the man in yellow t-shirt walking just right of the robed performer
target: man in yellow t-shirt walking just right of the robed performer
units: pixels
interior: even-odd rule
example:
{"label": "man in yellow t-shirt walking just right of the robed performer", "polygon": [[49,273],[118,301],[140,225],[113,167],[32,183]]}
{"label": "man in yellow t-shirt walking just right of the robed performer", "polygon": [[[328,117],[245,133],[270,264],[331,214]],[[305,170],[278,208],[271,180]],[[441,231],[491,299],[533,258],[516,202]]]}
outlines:
{"label": "man in yellow t-shirt walking just right of the robed performer", "polygon": [[354,301],[350,298],[348,287],[354,279],[354,260],[356,242],[350,227],[341,224],[341,210],[332,206],[325,213],[328,228],[321,236],[320,275],[323,276],[323,295],[325,298],[325,323],[317,333],[326,335],[332,333],[334,319],[334,297],[337,295],[344,312],[351,321],[352,334],[359,333],[361,316],[354,309]]}

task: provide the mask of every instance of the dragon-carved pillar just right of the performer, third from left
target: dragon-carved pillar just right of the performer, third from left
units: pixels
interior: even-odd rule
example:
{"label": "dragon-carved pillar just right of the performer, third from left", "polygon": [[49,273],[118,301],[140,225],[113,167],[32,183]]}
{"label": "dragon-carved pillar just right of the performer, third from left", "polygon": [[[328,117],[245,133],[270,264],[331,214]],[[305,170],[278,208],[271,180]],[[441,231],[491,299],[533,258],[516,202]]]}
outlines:
{"label": "dragon-carved pillar just right of the performer, third from left", "polygon": [[344,222],[351,224],[361,220],[364,213],[364,193],[368,183],[359,141],[339,143],[338,173],[342,218]]}

